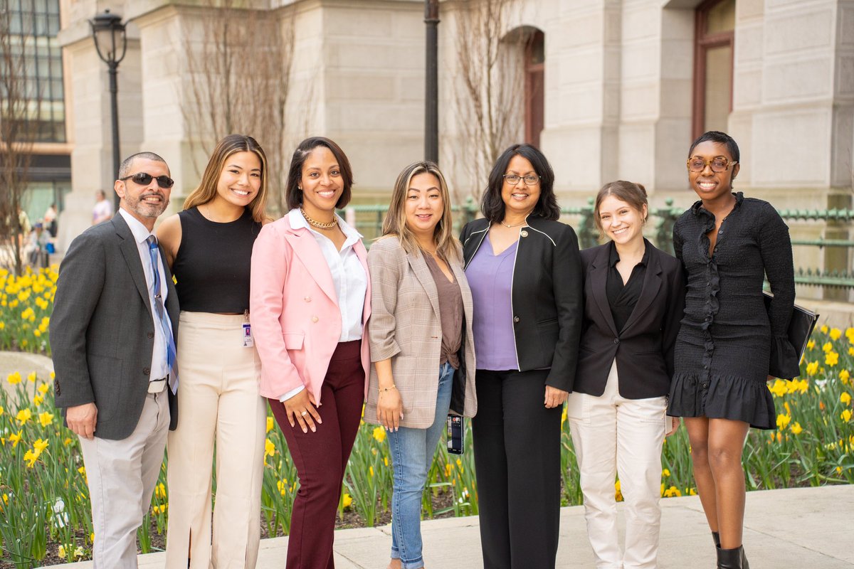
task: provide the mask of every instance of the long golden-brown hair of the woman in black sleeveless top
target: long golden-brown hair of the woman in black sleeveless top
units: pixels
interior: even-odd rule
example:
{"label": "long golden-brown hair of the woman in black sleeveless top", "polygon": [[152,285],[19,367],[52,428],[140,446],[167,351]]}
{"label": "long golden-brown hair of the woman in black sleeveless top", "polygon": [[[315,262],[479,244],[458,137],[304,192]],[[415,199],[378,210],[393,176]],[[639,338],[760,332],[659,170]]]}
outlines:
{"label": "long golden-brown hair of the woman in black sleeveless top", "polygon": [[230,134],[223,137],[217,142],[213,148],[208,165],[205,166],[205,171],[202,174],[202,181],[199,186],[190,192],[187,199],[184,200],[184,209],[190,207],[202,206],[208,201],[216,197],[217,185],[219,184],[219,176],[225,168],[225,160],[231,154],[237,152],[251,152],[258,156],[261,163],[261,185],[258,189],[258,195],[249,202],[249,211],[252,212],[252,218],[256,222],[263,222],[266,219],[266,200],[267,200],[267,163],[266,154],[260,144],[248,135]]}

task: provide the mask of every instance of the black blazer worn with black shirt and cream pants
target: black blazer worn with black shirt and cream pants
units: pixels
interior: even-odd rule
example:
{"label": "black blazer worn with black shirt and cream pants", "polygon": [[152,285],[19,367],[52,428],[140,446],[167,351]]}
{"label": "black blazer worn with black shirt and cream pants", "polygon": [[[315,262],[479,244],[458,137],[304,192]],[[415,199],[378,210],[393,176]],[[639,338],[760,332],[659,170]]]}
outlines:
{"label": "black blazer worn with black shirt and cream pants", "polygon": [[[646,241],[646,240],[644,240]],[[610,243],[582,251],[584,324],[575,391],[599,397],[617,358],[619,392],[627,399],[667,395],[673,347],[685,309],[685,277],[675,257],[652,247],[635,310],[617,332],[605,293]]]}

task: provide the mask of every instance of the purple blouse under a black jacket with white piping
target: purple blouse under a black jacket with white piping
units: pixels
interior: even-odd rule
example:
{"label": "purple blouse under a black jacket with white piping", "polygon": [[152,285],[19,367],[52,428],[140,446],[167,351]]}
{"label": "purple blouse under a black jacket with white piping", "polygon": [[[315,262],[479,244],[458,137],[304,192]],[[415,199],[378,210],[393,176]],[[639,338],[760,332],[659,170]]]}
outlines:
{"label": "purple blouse under a black jacket with white piping", "polygon": [[493,254],[487,234],[465,268],[471,287],[477,369],[519,369],[513,337],[512,284],[518,241]]}

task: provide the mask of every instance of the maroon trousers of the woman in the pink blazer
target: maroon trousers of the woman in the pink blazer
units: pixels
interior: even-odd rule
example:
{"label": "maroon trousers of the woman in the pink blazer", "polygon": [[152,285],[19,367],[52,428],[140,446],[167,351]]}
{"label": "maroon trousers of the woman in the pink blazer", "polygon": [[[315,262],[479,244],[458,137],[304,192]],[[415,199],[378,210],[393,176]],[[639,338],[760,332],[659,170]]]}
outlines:
{"label": "maroon trousers of the woman in the pink blazer", "polygon": [[361,341],[341,342],[329,363],[320,392],[317,432],[303,433],[285,415],[284,404],[267,399],[288,441],[300,477],[290,516],[287,569],[334,569],[332,533],[341,499],[344,468],[353,450],[365,398]]}

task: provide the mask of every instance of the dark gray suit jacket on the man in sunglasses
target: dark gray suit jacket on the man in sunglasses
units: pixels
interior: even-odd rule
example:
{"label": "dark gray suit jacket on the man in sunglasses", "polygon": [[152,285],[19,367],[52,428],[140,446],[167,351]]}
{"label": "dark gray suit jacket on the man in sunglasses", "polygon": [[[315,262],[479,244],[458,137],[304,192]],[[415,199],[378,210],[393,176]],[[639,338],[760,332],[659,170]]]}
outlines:
{"label": "dark gray suit jacket on the man in sunglasses", "polygon": [[[161,249],[161,258],[163,256]],[[178,337],[178,296],[166,263],[166,309]],[[50,317],[56,406],[94,402],[95,434],[127,438],[137,427],[148,392],[154,349],[148,285],[137,243],[124,218],[86,229],[62,260]],[[169,392],[169,428],[178,402]]]}

